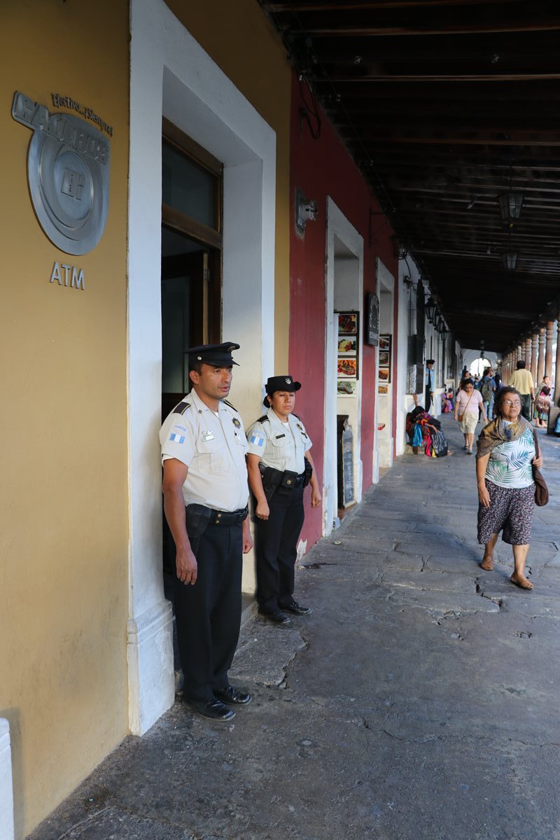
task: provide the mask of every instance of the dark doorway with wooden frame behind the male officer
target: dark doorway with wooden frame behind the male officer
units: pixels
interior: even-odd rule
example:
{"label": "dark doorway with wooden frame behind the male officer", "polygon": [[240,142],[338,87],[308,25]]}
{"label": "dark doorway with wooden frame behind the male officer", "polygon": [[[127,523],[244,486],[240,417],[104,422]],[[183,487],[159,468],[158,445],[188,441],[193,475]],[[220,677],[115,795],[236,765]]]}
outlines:
{"label": "dark doorway with wooden frame behind the male officer", "polygon": [[[187,349],[217,344],[222,314],[222,165],[164,120],[161,216],[161,420],[191,390]],[[162,507],[163,569],[175,543]],[[169,580],[165,590],[169,591]]]}

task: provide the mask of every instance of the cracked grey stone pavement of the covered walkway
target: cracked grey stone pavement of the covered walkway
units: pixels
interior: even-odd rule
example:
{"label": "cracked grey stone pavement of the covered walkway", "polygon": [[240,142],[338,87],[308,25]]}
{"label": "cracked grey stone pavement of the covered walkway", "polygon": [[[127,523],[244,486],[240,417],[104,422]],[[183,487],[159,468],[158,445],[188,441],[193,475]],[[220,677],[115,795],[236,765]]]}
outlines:
{"label": "cracked grey stone pavement of the covered walkway", "polygon": [[180,703],[32,840],[560,840],[560,441],[535,590],[479,568],[474,458],[409,451],[302,559],[311,616],[243,627],[228,725]]}

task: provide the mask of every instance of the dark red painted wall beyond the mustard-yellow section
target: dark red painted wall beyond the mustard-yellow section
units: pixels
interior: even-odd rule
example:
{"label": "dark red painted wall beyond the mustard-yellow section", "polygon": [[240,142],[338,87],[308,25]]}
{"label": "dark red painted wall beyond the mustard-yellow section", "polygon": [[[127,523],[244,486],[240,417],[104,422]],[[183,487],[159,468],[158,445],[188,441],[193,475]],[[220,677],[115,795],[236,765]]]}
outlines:
{"label": "dark red painted wall beyond the mustard-yellow section", "polygon": [[[309,92],[304,89],[309,102]],[[297,395],[296,413],[306,424],[313,442],[311,454],[322,485],[324,401],[325,401],[325,256],[327,249],[327,196],[364,238],[364,295],[375,291],[375,258],[385,263],[395,277],[395,318],[393,373],[395,382],[398,347],[395,343],[398,313],[398,260],[393,255],[390,236],[393,231],[382,215],[372,218],[373,241],[369,244],[369,211],[379,213],[369,186],[358,167],[348,155],[338,134],[325,113],[321,112],[322,127],[319,139],[311,137],[306,121],[300,119],[304,107],[298,76],[292,78],[290,126],[290,373],[301,379],[303,387]],[[306,197],[317,201],[318,218],[306,226],[305,238],[296,234],[296,188]],[[367,383],[374,381],[375,349],[367,345],[362,350],[362,440],[361,458],[364,465],[364,485],[372,483],[372,453],[374,445],[374,389]],[[396,428],[396,383],[393,397],[393,428]],[[321,508],[311,509],[310,494],[306,494],[306,522],[301,537],[310,548],[322,536]]]}

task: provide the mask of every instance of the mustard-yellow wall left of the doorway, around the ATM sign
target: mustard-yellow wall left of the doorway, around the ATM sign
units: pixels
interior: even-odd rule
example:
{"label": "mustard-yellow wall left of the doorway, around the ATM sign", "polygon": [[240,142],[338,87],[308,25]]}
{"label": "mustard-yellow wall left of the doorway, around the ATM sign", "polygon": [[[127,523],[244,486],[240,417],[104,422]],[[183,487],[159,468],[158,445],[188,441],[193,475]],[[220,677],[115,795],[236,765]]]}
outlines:
{"label": "mustard-yellow wall left of the doorway, around the ATM sign", "polygon": [[[26,0],[1,18],[0,717],[22,837],[128,731],[128,3]],[[16,90],[113,125],[107,227],[84,256],[34,216]],[[50,284],[55,260],[84,270],[85,291]]]}

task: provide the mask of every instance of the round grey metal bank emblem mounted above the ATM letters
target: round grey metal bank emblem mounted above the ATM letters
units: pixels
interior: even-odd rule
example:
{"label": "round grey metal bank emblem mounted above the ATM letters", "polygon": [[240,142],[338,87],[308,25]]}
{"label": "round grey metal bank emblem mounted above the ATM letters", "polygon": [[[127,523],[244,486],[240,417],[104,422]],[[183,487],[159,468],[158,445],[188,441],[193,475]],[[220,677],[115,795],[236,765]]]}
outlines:
{"label": "round grey metal bank emblem mounted above the ATM letters", "polygon": [[86,254],[102,238],[109,206],[109,142],[70,113],[15,92],[12,116],[32,129],[27,174],[39,224],[66,254]]}

